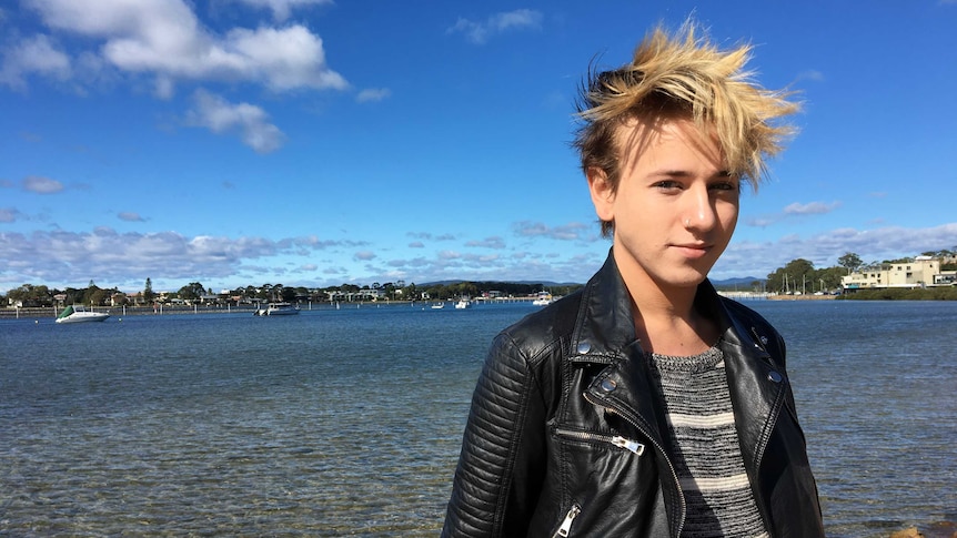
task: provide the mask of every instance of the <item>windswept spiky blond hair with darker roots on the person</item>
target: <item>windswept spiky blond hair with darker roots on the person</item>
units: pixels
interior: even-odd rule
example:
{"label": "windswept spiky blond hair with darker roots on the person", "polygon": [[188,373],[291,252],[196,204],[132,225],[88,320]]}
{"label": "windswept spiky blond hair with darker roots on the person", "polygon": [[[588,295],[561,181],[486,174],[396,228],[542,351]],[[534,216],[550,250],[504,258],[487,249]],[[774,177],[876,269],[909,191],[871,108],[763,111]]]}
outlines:
{"label": "windswept spiky blond hair with darker roots on the person", "polygon": [[[578,116],[584,121],[574,145],[582,169],[603,170],[613,189],[618,184],[615,129],[631,119],[688,115],[699,129],[714,130],[728,172],[757,187],[765,179],[765,159],[783,149],[794,130],[776,120],[798,110],[789,92],[769,91],[744,67],[751,45],[721,51],[696,35],[686,21],[674,37],[661,27],[635,49],[634,58],[613,71],[591,72],[582,87]],[[603,223],[606,235],[612,223]]]}

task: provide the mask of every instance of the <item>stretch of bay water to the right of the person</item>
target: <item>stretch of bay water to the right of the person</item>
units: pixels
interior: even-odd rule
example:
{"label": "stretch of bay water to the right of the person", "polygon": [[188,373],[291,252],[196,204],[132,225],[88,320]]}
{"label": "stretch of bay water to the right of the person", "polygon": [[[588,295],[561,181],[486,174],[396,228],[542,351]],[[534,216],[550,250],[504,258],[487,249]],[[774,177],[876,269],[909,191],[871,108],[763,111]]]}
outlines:
{"label": "stretch of bay water to the right of the person", "polygon": [[828,536],[957,521],[957,303],[751,303],[788,344]]}

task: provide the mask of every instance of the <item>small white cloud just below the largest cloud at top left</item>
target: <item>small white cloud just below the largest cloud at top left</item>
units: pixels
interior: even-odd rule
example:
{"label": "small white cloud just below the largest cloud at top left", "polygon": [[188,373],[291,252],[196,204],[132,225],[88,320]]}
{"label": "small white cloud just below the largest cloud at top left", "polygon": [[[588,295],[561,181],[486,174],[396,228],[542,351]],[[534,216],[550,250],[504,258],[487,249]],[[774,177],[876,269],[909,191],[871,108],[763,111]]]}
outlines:
{"label": "small white cloud just below the largest cloud at top left", "polygon": [[269,122],[269,114],[259,106],[233,104],[204,90],[197,90],[193,103],[187,114],[190,125],[204,126],[218,134],[236,133],[256,153],[270,153],[285,142],[285,134]]}

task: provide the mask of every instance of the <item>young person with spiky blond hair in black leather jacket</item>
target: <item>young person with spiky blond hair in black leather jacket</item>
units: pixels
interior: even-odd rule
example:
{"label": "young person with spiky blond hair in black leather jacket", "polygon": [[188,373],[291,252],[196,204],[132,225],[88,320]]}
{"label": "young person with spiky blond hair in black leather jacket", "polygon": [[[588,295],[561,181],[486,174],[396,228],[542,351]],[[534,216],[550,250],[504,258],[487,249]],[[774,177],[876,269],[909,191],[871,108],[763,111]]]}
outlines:
{"label": "young person with spiky blond hair in black leather jacket", "polygon": [[784,342],[707,281],[797,109],[748,55],[688,22],[590,75],[575,145],[612,248],[495,338],[443,536],[824,536]]}

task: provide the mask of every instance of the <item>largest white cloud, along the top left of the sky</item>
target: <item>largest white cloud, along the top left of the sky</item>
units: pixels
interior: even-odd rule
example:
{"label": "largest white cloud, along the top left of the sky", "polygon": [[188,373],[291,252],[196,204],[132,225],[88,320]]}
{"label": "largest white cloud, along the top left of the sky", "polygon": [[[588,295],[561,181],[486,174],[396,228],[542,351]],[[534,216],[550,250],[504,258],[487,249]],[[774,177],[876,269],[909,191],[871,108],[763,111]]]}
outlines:
{"label": "largest white cloud, along the top left of the sky", "polygon": [[28,3],[51,28],[104,40],[102,57],[122,71],[153,75],[161,97],[180,79],[248,81],[278,92],[349,85],[325,64],[322,39],[301,24],[216,35],[182,0]]}

